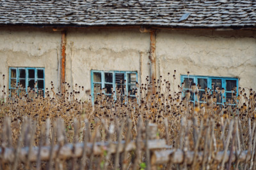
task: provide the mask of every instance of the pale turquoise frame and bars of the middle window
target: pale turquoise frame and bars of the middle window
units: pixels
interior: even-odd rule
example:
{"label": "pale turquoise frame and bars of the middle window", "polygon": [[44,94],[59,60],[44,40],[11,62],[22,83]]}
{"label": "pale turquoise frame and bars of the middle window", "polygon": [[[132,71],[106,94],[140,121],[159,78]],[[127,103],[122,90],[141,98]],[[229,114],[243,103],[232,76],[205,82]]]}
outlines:
{"label": "pale turquoise frame and bars of the middle window", "polygon": [[[101,74],[101,82],[94,82],[93,81],[93,73],[100,73]],[[113,82],[105,82],[105,74],[104,73],[112,73],[113,74]],[[99,70],[91,70],[91,95],[92,95],[92,101],[94,101],[94,83],[100,84],[101,88],[105,87],[105,84],[113,84],[113,89],[116,88],[116,82],[115,82],[115,74],[116,73],[124,73],[124,79],[126,80],[125,89],[128,93],[128,81],[127,81],[127,74],[136,74],[136,81],[138,82],[138,72],[137,71],[99,71]],[[126,94],[127,95],[127,94]],[[135,95],[131,95],[133,97],[136,97]]]}

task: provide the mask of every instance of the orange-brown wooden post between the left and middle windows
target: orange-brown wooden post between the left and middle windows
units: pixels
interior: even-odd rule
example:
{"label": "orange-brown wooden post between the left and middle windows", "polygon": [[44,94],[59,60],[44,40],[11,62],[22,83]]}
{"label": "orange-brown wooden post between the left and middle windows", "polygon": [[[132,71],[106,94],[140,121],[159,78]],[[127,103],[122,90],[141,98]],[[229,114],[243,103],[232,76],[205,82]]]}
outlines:
{"label": "orange-brown wooden post between the left and middle windows", "polygon": [[60,89],[64,92],[63,83],[65,83],[65,60],[66,60],[66,43],[67,43],[67,31],[61,31],[61,76],[60,76]]}

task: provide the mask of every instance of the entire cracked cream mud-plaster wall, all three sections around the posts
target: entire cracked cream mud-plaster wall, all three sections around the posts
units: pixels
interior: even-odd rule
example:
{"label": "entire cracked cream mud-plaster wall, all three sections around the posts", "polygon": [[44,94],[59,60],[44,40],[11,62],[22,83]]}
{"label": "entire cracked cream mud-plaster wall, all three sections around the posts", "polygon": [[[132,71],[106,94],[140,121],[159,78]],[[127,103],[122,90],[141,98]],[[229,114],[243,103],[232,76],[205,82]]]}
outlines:
{"label": "entire cracked cream mud-plaster wall, all three sections around the posts", "polygon": [[[157,76],[180,74],[238,77],[239,86],[256,89],[256,32],[161,30],[156,32]],[[149,75],[150,33],[138,29],[68,29],[66,81],[90,89],[90,71],[138,71]],[[0,27],[0,74],[8,67],[45,67],[45,86],[60,85],[61,32]],[[1,79],[0,79],[1,80]],[[8,76],[6,76],[6,87]],[[0,87],[1,88],[1,87]]]}

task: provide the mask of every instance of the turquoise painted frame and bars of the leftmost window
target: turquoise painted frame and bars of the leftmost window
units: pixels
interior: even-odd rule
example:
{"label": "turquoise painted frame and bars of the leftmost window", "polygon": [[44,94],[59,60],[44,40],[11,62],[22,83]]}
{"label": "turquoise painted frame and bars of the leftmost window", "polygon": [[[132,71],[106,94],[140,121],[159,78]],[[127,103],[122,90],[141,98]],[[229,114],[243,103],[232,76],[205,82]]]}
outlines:
{"label": "turquoise painted frame and bars of the leftmost window", "polygon": [[[16,78],[12,78],[11,77],[11,69],[15,69],[16,70]],[[20,69],[25,69],[25,74],[26,74],[26,77],[25,78],[19,78],[19,74],[20,74]],[[35,71],[35,78],[29,78],[28,77],[28,71],[29,69],[32,69]],[[37,70],[42,70],[44,71],[44,78],[38,78],[38,75],[37,75]],[[28,83],[29,83],[29,80],[35,80],[35,81],[38,81],[38,80],[44,80],[44,95],[45,95],[45,69],[44,67],[9,67],[9,89],[16,89],[16,87],[11,87],[11,80],[16,80],[16,83],[19,83],[20,82],[20,79],[22,80],[25,80],[26,81],[26,87],[25,87],[25,90],[26,90],[26,93],[28,93]],[[18,93],[19,94],[19,93]]]}

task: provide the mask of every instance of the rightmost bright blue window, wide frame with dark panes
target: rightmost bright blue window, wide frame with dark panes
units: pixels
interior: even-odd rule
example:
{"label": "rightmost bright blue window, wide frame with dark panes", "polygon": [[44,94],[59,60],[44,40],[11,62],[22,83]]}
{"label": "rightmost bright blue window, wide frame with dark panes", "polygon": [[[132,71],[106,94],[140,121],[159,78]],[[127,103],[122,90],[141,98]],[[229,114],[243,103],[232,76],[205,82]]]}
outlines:
{"label": "rightmost bright blue window, wide frame with dark panes", "polygon": [[[218,77],[218,76],[195,76],[195,75],[181,75],[180,81],[184,82],[183,90],[190,91],[190,101],[205,102],[205,92],[214,94],[216,96],[216,103],[223,104],[230,101],[232,96],[238,95],[238,78]],[[198,89],[200,99],[195,97],[195,92],[192,85],[195,83]],[[234,104],[234,103],[233,103]]]}

